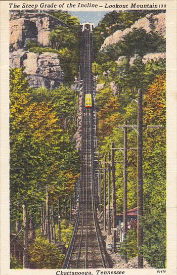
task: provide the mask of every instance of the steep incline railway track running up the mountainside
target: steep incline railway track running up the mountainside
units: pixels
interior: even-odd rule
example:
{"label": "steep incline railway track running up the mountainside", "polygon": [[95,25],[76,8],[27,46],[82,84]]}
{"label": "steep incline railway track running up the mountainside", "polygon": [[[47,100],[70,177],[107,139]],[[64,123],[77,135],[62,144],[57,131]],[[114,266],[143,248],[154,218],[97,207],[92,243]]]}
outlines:
{"label": "steep incline railway track running up the mountainside", "polygon": [[84,106],[85,94],[92,94],[91,36],[89,30],[82,32],[81,79],[83,80],[83,101],[80,196],[74,233],[63,268],[109,267],[95,210],[93,110]]}

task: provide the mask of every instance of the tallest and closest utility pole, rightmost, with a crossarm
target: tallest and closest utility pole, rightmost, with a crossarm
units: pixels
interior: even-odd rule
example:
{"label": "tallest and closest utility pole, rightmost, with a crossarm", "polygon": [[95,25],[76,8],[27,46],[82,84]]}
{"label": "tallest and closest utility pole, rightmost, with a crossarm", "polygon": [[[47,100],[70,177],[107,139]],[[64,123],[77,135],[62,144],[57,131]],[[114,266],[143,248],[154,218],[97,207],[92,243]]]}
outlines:
{"label": "tallest and closest utility pole, rightmost, with a crossarm", "polygon": [[138,268],[143,268],[143,94],[138,90]]}

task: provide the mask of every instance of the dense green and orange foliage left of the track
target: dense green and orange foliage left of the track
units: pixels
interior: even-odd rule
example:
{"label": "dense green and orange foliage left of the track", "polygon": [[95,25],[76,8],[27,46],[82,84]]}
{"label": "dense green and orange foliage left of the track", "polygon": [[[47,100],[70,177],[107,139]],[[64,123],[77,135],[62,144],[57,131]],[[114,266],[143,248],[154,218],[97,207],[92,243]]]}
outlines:
{"label": "dense green and orange foliage left of the track", "polygon": [[[12,226],[17,201],[25,201],[40,215],[40,201],[49,187],[51,201],[74,192],[79,156],[73,135],[76,95],[67,86],[56,90],[31,89],[22,69],[10,74],[10,197]],[[65,204],[69,204],[69,201]],[[54,207],[57,207],[54,206]],[[22,210],[22,209],[21,209]],[[54,209],[55,210],[55,209]],[[20,211],[21,212],[21,211]],[[21,214],[19,213],[21,218]],[[21,220],[22,221],[22,220]]]}

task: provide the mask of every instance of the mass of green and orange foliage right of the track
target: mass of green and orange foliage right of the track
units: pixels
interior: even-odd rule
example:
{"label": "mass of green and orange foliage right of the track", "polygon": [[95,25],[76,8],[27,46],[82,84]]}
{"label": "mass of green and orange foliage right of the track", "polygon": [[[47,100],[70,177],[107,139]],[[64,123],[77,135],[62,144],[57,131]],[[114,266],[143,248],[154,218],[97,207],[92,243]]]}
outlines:
{"label": "mass of green and orange foliage right of the track", "polygon": [[[135,12],[136,14],[136,12]],[[125,17],[128,18],[125,14]],[[114,16],[116,14],[114,13]],[[122,16],[124,16],[122,14]],[[139,14],[136,14],[135,17]],[[111,20],[111,17],[110,17]],[[125,20],[126,22],[126,20]],[[108,25],[107,25],[108,24]],[[102,30],[108,31],[109,21],[102,20]],[[118,26],[118,25],[117,25]],[[165,40],[155,32],[132,29],[117,44],[97,54],[93,72],[102,84],[97,92],[98,151],[108,155],[111,142],[123,147],[123,130],[127,124],[137,124],[137,91],[143,89],[144,125],[162,125],[162,128],[144,129],[144,256],[149,264],[164,268],[166,264],[166,141],[165,141],[165,60],[143,62],[147,53],[165,51]],[[123,56],[123,57],[122,57]],[[118,60],[119,57],[122,57]],[[117,61],[118,60],[118,61]],[[137,132],[128,129],[128,147],[137,147]],[[137,206],[137,152],[128,151],[128,209]],[[116,151],[115,159],[123,161]],[[103,159],[102,159],[103,160]],[[117,213],[123,211],[123,165],[116,164]],[[136,231],[129,231],[122,255],[137,255]]]}

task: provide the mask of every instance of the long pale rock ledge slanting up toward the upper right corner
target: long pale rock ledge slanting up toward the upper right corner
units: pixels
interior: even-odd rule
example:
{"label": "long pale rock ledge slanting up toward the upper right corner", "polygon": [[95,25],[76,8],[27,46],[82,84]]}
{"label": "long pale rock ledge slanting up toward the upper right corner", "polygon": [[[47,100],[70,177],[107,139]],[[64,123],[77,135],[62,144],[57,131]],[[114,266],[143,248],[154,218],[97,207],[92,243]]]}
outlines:
{"label": "long pale rock ledge slanting up toward the upper right corner", "polygon": [[101,51],[109,45],[115,44],[122,39],[122,37],[134,28],[143,28],[147,32],[157,31],[165,36],[165,13],[159,13],[156,15],[148,14],[146,17],[139,19],[130,28],[126,28],[123,31],[117,30],[112,35],[106,37],[101,47]]}

